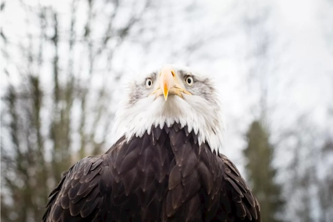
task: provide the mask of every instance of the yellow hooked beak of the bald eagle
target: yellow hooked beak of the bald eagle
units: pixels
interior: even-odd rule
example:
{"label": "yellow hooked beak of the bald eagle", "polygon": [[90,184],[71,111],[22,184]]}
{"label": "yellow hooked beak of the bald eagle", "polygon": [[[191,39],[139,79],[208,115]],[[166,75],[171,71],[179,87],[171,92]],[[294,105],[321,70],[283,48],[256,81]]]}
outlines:
{"label": "yellow hooked beak of the bald eagle", "polygon": [[163,95],[164,99],[167,100],[169,94],[177,95],[180,98],[183,98],[182,93],[192,95],[190,92],[180,87],[176,74],[170,67],[163,67],[161,69],[159,80],[160,86],[152,93],[156,93],[156,97]]}

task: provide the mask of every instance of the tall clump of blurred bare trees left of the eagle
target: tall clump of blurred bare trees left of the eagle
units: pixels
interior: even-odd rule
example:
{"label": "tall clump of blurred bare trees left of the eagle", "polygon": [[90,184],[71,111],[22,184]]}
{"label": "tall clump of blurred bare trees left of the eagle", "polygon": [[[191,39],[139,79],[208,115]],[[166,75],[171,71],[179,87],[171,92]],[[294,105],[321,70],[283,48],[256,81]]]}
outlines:
{"label": "tall clump of blurred bare trees left of the eagle", "polygon": [[[21,2],[28,33],[19,43],[8,42],[7,51],[18,52],[8,55],[8,88],[0,98],[0,222],[41,221],[61,173],[102,152],[113,119],[110,83],[120,79],[113,54],[135,35],[148,3],[72,0],[68,16]],[[87,10],[84,24],[77,22],[80,9]],[[129,20],[115,25],[124,15]],[[5,39],[2,30],[0,35]]]}

